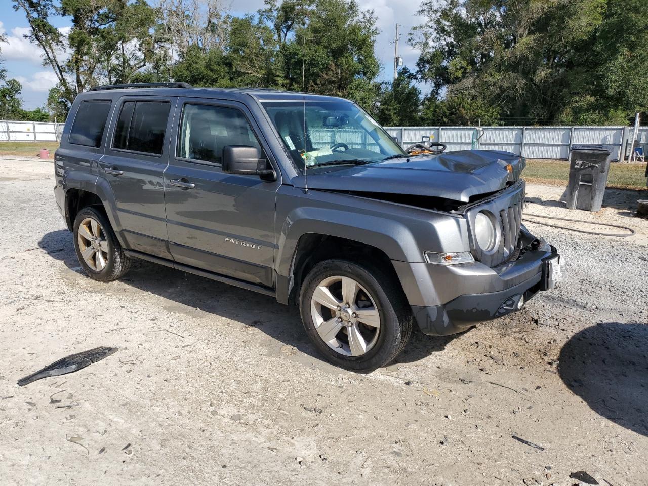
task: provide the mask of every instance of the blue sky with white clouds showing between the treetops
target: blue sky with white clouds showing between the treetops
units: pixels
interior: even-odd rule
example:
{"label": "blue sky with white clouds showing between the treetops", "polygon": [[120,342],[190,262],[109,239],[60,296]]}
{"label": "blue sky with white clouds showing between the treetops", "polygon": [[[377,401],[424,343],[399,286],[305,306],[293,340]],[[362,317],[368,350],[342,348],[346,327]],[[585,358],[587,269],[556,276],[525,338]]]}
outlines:
{"label": "blue sky with white clouds showing between the treetops", "polygon": [[[15,12],[8,0],[3,0],[0,15],[0,33],[6,37],[6,43],[0,43],[0,57],[4,60],[4,67],[10,78],[16,78],[23,85],[23,108],[33,110],[45,104],[47,91],[56,84],[56,76],[49,66],[43,66],[41,52],[38,46],[30,44],[23,35],[29,32],[25,14],[21,10]],[[393,72],[394,47],[391,41],[394,38],[396,23],[403,25],[400,32],[399,51],[404,58],[406,66],[413,68],[417,59],[417,52],[406,45],[407,33],[410,28],[419,23],[415,16],[419,8],[419,0],[358,0],[364,9],[373,9],[378,19],[377,26],[380,34],[376,40],[376,54],[380,58],[384,71],[381,78],[391,78]],[[231,9],[233,15],[244,12],[255,12],[262,8],[263,0],[237,0]],[[65,29],[69,21],[65,18],[52,19],[54,27]]]}

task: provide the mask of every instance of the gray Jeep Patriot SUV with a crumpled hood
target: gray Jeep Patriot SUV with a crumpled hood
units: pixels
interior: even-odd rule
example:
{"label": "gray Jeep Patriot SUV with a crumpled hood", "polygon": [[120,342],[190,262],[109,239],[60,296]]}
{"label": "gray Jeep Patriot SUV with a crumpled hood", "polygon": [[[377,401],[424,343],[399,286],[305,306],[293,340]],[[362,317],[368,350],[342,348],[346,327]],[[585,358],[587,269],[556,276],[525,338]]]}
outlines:
{"label": "gray Jeep Patriot SUV with a crumpled hood", "polygon": [[273,295],[323,356],[368,371],[414,321],[460,332],[560,272],[521,224],[522,157],[439,152],[403,150],[340,98],[101,86],[67,117],[54,194],[92,279],[139,258]]}

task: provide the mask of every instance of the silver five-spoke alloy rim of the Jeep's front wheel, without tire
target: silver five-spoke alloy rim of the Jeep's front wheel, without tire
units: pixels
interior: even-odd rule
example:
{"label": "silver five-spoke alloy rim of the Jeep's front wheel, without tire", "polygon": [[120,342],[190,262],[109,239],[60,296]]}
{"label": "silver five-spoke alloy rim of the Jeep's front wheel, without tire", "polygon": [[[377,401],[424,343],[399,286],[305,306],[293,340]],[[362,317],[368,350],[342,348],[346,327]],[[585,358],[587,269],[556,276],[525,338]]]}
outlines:
{"label": "silver five-spoke alloy rim of the Jeep's front wheel, without tire", "polygon": [[378,341],[380,314],[375,299],[351,277],[334,275],[321,281],[310,299],[319,337],[344,356],[362,356]]}

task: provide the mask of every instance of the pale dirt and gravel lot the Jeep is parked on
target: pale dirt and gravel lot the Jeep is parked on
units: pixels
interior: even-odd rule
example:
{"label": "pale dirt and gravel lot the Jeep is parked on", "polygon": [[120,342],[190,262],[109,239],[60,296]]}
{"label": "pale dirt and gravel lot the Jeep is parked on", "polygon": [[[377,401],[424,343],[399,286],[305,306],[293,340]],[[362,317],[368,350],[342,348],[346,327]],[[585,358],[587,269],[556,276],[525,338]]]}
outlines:
{"label": "pale dirt and gravel lot the Jeep is parked on", "polygon": [[[270,297],[146,262],[87,279],[52,171],[0,161],[1,484],[648,482],[648,221],[631,212],[648,194],[608,191],[591,214],[529,185],[527,214],[638,235],[528,224],[561,249],[561,288],[458,336],[415,334],[397,363],[358,375],[320,360]],[[99,345],[119,351],[16,385]]]}

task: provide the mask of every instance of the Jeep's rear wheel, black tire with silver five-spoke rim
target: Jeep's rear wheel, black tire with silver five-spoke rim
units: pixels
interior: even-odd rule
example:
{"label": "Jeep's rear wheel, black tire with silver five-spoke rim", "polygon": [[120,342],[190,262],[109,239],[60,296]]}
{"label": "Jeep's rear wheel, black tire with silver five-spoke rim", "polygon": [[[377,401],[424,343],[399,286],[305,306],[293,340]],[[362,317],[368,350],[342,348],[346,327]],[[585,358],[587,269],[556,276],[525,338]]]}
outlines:
{"label": "Jeep's rear wheel, black tire with silver five-spoke rim", "polygon": [[76,214],[72,234],[76,257],[88,277],[110,282],[126,275],[132,259],[124,255],[103,211],[84,207]]}

